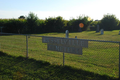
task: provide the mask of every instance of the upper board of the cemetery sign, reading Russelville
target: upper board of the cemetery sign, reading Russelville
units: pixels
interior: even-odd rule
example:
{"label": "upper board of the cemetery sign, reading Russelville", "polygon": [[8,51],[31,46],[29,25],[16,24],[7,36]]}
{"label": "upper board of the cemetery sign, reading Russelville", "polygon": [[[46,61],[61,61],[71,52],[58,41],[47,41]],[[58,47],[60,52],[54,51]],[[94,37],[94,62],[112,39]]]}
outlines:
{"label": "upper board of the cemetery sign, reading Russelville", "polygon": [[64,46],[88,47],[88,41],[74,38],[42,37],[42,42]]}

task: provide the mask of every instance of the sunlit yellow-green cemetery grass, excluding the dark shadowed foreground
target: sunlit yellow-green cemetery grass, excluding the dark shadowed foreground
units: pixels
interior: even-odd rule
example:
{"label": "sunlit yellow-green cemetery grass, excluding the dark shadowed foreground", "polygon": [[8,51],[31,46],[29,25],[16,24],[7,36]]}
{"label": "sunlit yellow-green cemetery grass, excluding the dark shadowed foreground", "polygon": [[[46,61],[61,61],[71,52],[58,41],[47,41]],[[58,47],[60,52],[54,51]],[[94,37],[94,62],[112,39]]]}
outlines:
{"label": "sunlit yellow-green cemetery grass, excluding the dark shadowed foreground", "polygon": [[[95,33],[95,31],[85,31],[81,33],[69,33],[69,37],[75,38],[75,36],[77,36],[79,39],[120,41],[120,35],[118,35],[118,32],[118,30],[105,31],[104,35],[100,35],[100,33]],[[45,33],[35,35],[65,37],[64,33]],[[62,67],[62,52],[48,51],[47,44],[42,43],[41,37],[31,36],[28,39],[28,43],[29,58],[37,61],[46,61],[54,66],[59,65]],[[0,36],[0,51],[16,57],[25,57],[26,37]],[[74,67],[77,70],[106,75],[110,78],[118,78],[119,44],[89,41],[88,48],[83,48],[83,55],[65,53],[65,65],[71,66],[72,68]],[[59,73],[57,72],[56,75],[57,74]]]}

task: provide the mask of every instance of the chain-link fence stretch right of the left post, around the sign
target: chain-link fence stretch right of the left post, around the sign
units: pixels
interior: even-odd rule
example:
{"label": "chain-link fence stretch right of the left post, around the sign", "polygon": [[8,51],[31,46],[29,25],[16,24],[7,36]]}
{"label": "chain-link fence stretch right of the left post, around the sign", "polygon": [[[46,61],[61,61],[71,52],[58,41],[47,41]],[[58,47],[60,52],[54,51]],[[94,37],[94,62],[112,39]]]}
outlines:
{"label": "chain-link fence stretch right of the left post, around the sign", "polygon": [[[119,43],[100,40],[87,41],[88,48],[82,48],[82,55],[64,53],[64,64],[98,74],[118,77]],[[42,43],[41,37],[31,36],[28,42],[29,57],[37,56],[37,59],[63,65],[63,52],[47,50],[47,43]]]}

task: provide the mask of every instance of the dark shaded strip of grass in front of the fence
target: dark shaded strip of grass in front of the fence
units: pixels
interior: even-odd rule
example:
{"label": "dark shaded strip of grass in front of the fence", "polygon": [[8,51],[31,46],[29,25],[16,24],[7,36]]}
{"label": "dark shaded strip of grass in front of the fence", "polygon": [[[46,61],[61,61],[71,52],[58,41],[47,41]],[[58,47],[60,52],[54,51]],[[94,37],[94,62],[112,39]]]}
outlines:
{"label": "dark shaded strip of grass in front of the fence", "polygon": [[15,57],[0,51],[0,80],[119,80],[70,66]]}

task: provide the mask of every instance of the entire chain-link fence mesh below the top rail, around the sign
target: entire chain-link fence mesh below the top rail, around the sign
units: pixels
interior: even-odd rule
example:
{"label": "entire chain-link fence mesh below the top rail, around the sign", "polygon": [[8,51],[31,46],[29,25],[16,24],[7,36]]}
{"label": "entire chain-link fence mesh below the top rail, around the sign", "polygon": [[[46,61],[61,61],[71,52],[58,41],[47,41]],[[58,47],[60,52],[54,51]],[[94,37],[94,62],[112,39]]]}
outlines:
{"label": "entire chain-link fence mesh below the top rail, around the sign", "polygon": [[120,42],[87,40],[88,48],[82,48],[82,55],[65,53],[63,56],[63,52],[47,50],[47,43],[42,43],[42,37],[36,35],[0,35],[0,51],[14,56],[48,61],[55,65],[63,65],[64,57],[65,65],[101,75],[120,76]]}

